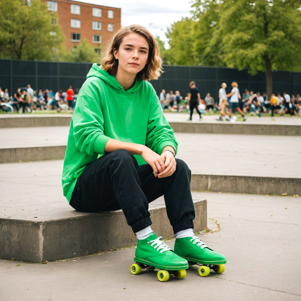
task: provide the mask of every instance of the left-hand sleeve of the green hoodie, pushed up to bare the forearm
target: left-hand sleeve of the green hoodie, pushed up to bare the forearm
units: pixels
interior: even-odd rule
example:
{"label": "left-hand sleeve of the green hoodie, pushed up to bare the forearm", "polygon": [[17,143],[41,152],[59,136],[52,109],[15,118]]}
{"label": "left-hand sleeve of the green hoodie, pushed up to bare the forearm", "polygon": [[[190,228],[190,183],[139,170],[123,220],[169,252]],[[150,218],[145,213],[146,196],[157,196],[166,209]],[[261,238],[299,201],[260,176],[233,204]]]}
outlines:
{"label": "left-hand sleeve of the green hoodie, pushed up to bare the forearm", "polygon": [[[104,147],[110,137],[104,135],[104,117],[98,105],[89,96],[82,96],[81,103],[73,112],[73,135],[77,149],[89,156],[104,154]],[[91,106],[92,104],[92,106]]]}

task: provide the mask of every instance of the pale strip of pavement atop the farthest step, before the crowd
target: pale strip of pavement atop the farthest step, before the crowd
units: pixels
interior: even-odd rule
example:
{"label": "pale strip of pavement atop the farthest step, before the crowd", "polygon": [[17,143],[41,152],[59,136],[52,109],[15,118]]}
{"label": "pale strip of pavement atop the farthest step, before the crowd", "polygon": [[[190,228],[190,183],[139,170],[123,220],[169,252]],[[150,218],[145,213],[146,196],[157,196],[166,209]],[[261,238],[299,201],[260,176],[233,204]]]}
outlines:
{"label": "pale strip of pavement atop the farthest step, before the crowd", "polygon": [[[189,118],[189,113],[167,113],[164,112],[166,119],[169,122],[175,121],[187,121]],[[20,118],[20,117],[53,117],[53,116],[71,116],[71,113],[57,113],[57,114],[0,114],[0,118]],[[238,115],[237,115],[238,116]],[[199,121],[199,116],[194,113],[192,116],[193,122],[212,122],[217,123],[216,119],[218,115],[203,115],[203,120]],[[287,125],[301,125],[301,117],[299,116],[262,116],[261,118],[257,116],[248,116],[247,121],[236,121],[237,123],[250,123],[250,124],[287,124]]]}

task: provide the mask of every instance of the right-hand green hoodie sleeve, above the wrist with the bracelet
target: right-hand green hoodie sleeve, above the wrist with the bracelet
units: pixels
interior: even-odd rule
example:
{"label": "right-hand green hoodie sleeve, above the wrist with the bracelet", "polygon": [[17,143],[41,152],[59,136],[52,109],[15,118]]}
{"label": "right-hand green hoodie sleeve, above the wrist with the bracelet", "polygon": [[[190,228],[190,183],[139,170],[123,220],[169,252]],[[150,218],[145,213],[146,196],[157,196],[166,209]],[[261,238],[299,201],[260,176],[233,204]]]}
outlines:
{"label": "right-hand green hoodie sleeve, above the wrist with the bracelet", "polygon": [[159,98],[154,89],[151,94],[145,145],[159,155],[167,145],[174,148],[175,154],[178,151],[178,142],[175,140],[174,132],[163,114]]}

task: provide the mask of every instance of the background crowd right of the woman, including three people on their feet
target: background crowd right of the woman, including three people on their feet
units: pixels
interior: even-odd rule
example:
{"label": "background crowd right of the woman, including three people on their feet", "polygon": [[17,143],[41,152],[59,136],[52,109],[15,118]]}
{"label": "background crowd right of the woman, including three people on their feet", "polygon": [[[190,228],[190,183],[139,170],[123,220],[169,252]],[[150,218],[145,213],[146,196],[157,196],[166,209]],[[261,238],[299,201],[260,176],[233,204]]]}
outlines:
{"label": "background crowd right of the woman, including three people on their feet", "polygon": [[[190,92],[185,97],[181,96],[178,90],[175,93],[173,91],[166,93],[166,90],[162,89],[159,100],[163,110],[190,112],[188,120],[191,120],[194,108],[200,115],[200,119],[202,118],[202,114],[219,112],[220,116],[217,119],[219,121],[236,120],[236,117],[233,116],[235,111],[242,116],[243,120],[246,120],[246,113],[259,117],[265,114],[274,116],[274,113],[301,116],[301,97],[299,94],[290,96],[287,92],[283,92],[282,94],[278,92],[268,98],[265,92],[254,93],[245,89],[241,95],[237,82],[232,82],[231,86],[231,92],[227,94],[227,85],[226,83],[222,83],[217,101],[214,100],[210,93],[206,93],[204,99],[201,98],[200,91],[195,86],[195,82],[190,83]],[[191,97],[192,101],[190,101]]]}

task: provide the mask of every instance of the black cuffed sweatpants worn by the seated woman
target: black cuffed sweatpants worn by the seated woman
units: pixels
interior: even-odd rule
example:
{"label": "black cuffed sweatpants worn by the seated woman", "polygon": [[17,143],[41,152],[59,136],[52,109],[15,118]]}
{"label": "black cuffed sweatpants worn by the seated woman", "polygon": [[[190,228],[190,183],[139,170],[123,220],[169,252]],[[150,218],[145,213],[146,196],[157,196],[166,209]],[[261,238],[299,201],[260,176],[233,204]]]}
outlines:
{"label": "black cuffed sweatpants worn by the seated woman", "polygon": [[138,166],[136,158],[127,150],[104,154],[79,176],[70,205],[81,212],[122,209],[135,233],[152,224],[148,203],[164,195],[174,233],[193,228],[191,170],[183,160],[175,160],[175,172],[158,178],[149,164]]}

